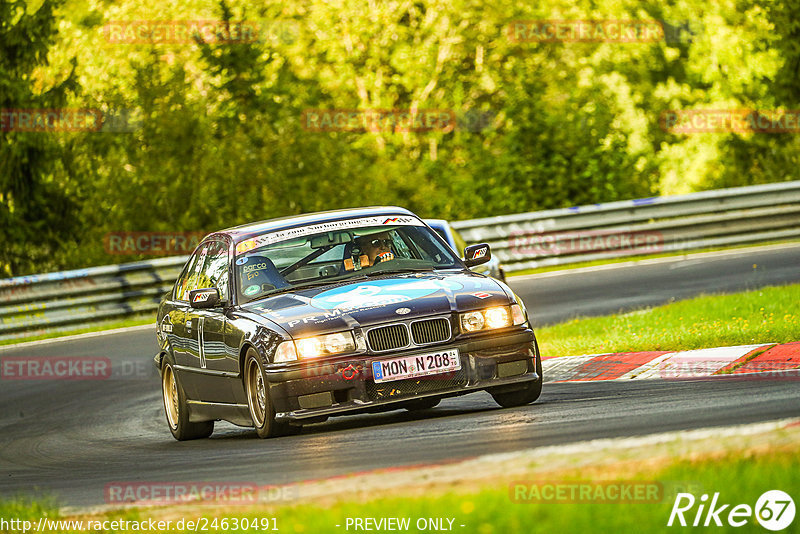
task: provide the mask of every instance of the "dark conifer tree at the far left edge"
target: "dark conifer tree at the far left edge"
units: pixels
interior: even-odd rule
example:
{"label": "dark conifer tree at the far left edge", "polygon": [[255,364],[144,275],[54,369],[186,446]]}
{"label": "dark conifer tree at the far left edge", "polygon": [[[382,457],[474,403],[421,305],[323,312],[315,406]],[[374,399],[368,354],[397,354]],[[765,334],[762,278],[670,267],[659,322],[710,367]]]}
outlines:
{"label": "dark conifer tree at the far left edge", "polygon": [[[0,0],[0,269],[6,275],[54,268],[50,260],[73,236],[76,202],[67,189],[70,155],[59,135],[15,131],[13,110],[59,109],[78,90],[73,69],[60,81],[37,78],[56,35],[46,0],[34,12],[23,1]],[[40,84],[46,87],[40,89]]]}

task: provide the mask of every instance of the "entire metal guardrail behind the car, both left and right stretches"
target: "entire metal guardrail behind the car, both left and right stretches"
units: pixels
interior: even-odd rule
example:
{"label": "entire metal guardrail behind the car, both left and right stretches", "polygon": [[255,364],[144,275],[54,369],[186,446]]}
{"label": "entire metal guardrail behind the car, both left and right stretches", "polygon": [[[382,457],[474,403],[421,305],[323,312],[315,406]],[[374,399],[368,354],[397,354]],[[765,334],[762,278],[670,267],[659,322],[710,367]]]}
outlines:
{"label": "entire metal guardrail behind the car, both left and right stretches", "polygon": [[[507,272],[800,238],[800,181],[452,223]],[[186,256],[0,280],[0,340],[152,313]]]}

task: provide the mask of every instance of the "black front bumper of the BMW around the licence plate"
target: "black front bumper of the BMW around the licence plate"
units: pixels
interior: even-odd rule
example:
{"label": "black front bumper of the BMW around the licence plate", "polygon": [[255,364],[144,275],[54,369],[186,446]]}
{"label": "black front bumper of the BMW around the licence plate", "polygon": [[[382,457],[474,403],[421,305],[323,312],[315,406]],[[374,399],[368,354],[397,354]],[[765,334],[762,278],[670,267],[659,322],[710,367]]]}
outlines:
{"label": "black front bumper of the BMW around the licence plate", "polygon": [[[391,408],[424,397],[455,396],[482,389],[514,389],[541,380],[532,330],[498,334],[402,353],[359,355],[304,363],[300,369],[267,368],[270,398],[278,421]],[[461,369],[417,378],[375,383],[373,361],[430,354],[456,348]],[[538,366],[538,368],[541,368]],[[399,406],[398,406],[399,407]]]}

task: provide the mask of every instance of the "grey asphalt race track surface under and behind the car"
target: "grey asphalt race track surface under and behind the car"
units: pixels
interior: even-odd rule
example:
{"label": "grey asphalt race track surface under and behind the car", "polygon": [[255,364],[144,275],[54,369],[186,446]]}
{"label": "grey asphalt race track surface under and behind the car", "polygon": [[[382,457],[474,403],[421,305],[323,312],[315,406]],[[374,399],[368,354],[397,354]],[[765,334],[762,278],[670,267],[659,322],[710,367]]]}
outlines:
{"label": "grey asphalt race track surface under and behind the car", "polygon": [[[755,264],[755,268],[753,267]],[[800,281],[800,246],[512,279],[539,325],[686,298]],[[0,351],[107,357],[108,380],[0,382],[0,495],[54,494],[103,504],[112,482],[284,484],[586,439],[645,435],[800,416],[797,380],[547,384],[531,406],[501,409],[485,393],[426,412],[339,417],[300,435],[260,440],[218,424],[178,443],[164,422],[152,366],[154,331],[138,330]]]}

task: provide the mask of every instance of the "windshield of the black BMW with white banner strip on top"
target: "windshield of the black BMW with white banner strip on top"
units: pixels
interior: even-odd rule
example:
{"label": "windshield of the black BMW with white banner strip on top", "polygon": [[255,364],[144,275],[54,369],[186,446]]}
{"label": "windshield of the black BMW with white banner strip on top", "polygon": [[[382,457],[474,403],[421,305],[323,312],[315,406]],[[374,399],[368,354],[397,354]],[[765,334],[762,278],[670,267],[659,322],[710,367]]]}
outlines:
{"label": "windshield of the black BMW with white banner strip on top", "polygon": [[357,223],[321,225],[334,229],[315,233],[308,227],[267,233],[239,243],[239,302],[349,278],[462,267],[453,251],[417,219],[405,217],[395,225]]}

